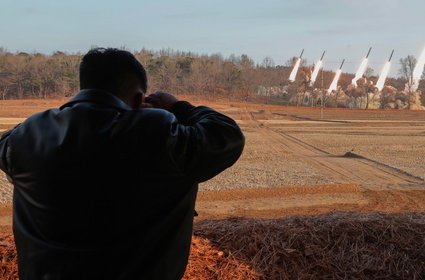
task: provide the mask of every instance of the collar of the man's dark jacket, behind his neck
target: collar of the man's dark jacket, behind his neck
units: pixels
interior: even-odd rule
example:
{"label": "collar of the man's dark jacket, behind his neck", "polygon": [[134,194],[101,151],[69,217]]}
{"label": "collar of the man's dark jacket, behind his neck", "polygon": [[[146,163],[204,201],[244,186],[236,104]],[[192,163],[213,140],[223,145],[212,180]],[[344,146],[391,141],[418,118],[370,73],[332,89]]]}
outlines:
{"label": "collar of the man's dark jacket, behind his neck", "polygon": [[119,110],[131,110],[131,108],[121,99],[112,93],[101,89],[83,89],[67,103],[62,105],[60,109],[70,107],[80,102],[92,102],[115,107]]}

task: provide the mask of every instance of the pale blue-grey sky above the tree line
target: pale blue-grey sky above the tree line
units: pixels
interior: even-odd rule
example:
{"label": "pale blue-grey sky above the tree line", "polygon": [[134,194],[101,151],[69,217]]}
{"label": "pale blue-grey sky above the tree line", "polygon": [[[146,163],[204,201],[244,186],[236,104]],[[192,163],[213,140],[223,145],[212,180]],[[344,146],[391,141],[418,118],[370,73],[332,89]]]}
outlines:
{"label": "pale blue-grey sky above the tree line", "polygon": [[343,58],[355,72],[372,47],[378,74],[425,47],[424,0],[0,0],[0,46],[11,52],[86,52],[91,46],[172,48],[247,54],[282,65],[305,49],[308,63],[326,50],[325,69]]}

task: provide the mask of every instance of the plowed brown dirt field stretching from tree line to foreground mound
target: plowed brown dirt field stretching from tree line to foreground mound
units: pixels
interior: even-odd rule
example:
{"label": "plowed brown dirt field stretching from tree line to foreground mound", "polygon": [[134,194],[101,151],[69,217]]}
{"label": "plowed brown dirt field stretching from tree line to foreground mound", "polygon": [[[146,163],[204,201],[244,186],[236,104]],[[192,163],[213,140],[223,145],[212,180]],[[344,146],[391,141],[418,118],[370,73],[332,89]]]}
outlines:
{"label": "plowed brown dirt field stretching from tree line to foreground mound", "polygon": [[[198,220],[425,211],[423,111],[322,111],[188,99],[234,118],[246,136],[237,164],[200,184]],[[1,101],[0,131],[65,101]],[[1,174],[2,231],[10,230],[11,194]]]}

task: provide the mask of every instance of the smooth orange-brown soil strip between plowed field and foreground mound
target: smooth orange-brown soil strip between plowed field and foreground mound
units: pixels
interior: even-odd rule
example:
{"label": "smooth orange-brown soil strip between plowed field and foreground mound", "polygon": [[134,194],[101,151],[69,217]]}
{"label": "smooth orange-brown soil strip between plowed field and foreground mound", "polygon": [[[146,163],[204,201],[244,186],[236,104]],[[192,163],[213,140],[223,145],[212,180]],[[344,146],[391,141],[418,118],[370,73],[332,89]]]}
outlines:
{"label": "smooth orange-brown soil strip between plowed field and foreground mound", "polygon": [[362,190],[357,185],[325,185],[205,191],[198,195],[196,210],[197,220],[279,218],[331,211],[425,211],[425,190]]}

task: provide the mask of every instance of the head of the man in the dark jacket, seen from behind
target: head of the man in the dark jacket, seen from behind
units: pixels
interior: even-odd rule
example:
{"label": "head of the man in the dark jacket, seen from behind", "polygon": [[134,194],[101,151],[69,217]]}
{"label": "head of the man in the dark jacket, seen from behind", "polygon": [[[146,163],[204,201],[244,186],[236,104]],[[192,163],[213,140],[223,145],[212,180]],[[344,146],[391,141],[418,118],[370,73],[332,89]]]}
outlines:
{"label": "head of the man in the dark jacket, seen from behind", "polygon": [[137,107],[147,90],[146,72],[128,51],[95,48],[81,61],[80,88],[106,90]]}

